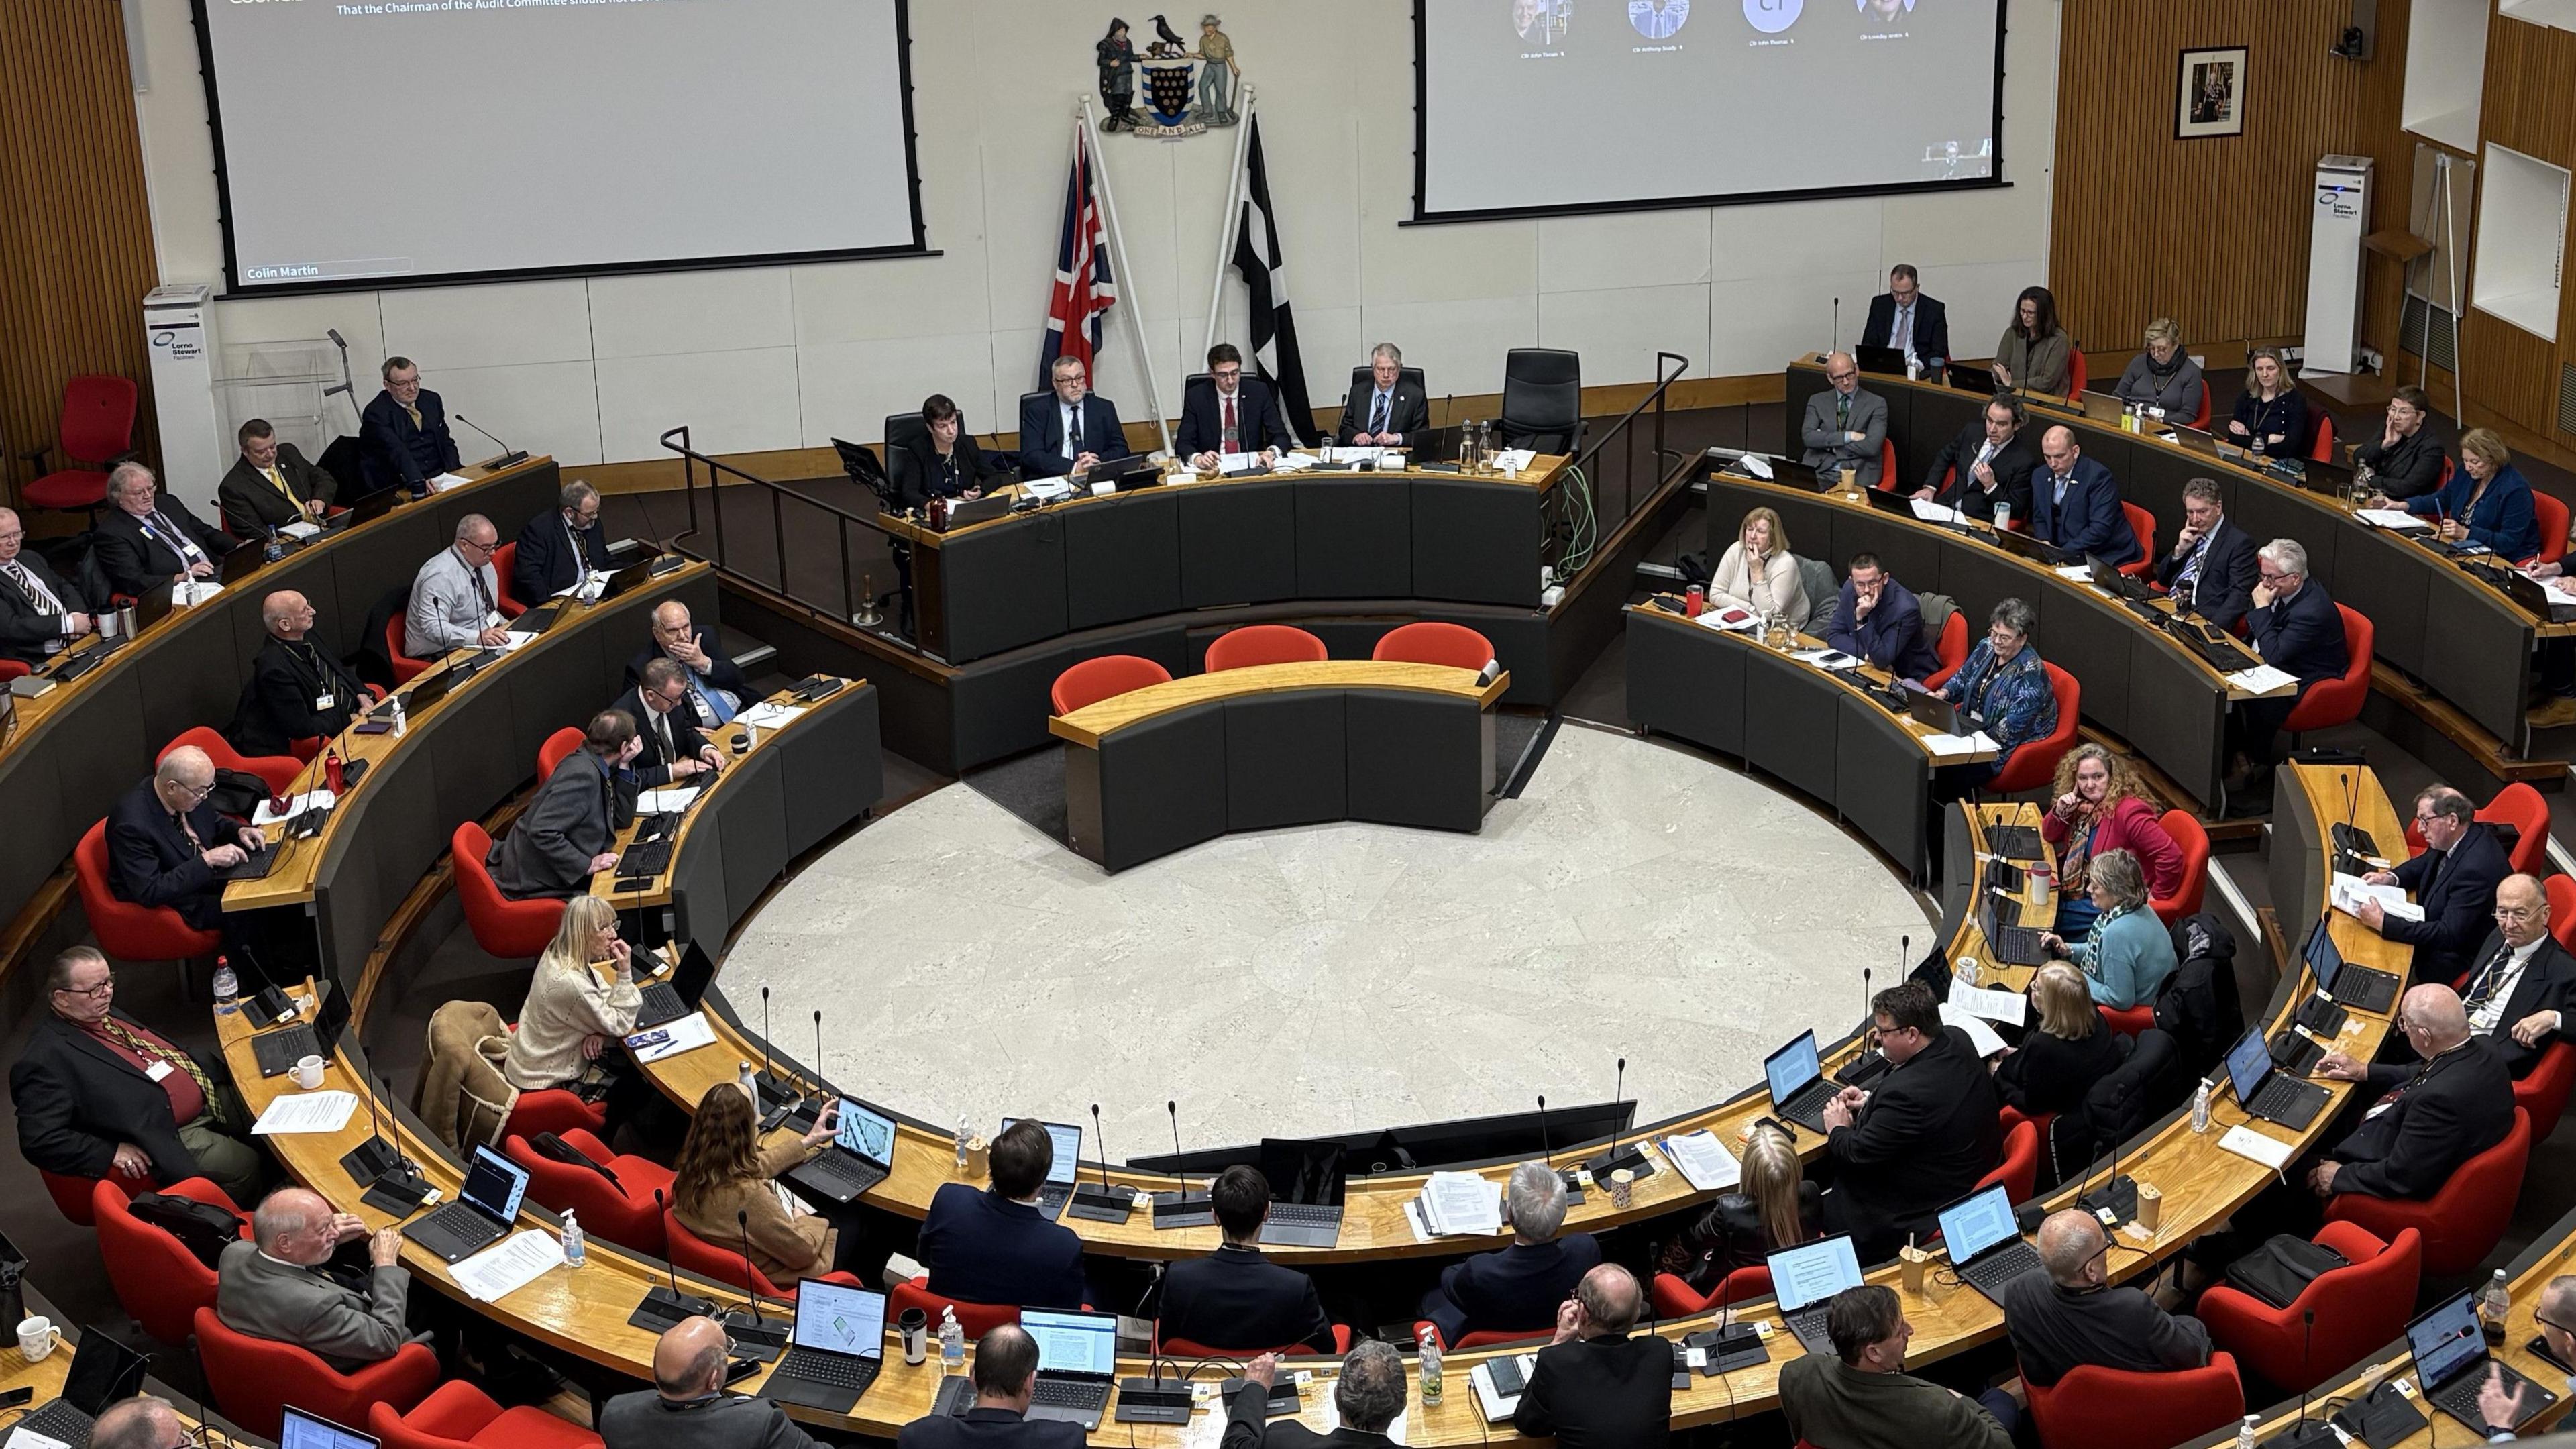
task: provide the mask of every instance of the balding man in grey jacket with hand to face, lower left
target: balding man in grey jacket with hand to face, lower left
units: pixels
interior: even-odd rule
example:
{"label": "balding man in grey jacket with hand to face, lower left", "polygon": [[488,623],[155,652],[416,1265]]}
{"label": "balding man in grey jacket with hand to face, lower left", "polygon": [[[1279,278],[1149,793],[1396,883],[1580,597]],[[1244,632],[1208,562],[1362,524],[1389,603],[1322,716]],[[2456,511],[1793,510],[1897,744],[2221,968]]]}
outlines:
{"label": "balding man in grey jacket with hand to face, lower left", "polygon": [[[368,1238],[366,1222],[332,1212],[322,1194],[278,1189],[250,1214],[250,1243],[224,1248],[216,1269],[214,1315],[224,1328],[309,1348],[343,1374],[410,1343],[402,1305],[412,1274],[402,1269],[399,1227]],[[363,1294],[314,1271],[358,1238],[368,1238],[366,1258],[376,1266]]]}

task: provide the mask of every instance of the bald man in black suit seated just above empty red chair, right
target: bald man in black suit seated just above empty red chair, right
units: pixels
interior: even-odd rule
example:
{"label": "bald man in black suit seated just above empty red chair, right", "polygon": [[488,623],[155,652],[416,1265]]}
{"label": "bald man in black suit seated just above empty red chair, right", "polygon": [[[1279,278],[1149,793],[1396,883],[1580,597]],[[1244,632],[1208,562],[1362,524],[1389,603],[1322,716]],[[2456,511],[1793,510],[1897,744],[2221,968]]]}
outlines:
{"label": "bald man in black suit seated just above empty red chair, right", "polygon": [[2383,1093],[2352,1134],[2308,1168],[2306,1183],[2316,1196],[2349,1191],[2424,1201],[2460,1163],[2514,1129],[2514,1073],[2494,1042],[2468,1029],[2468,1011],[2447,985],[2409,987],[2398,1029],[2419,1062],[2365,1065],[2326,1052],[2316,1065],[2321,1078],[2370,1083]]}

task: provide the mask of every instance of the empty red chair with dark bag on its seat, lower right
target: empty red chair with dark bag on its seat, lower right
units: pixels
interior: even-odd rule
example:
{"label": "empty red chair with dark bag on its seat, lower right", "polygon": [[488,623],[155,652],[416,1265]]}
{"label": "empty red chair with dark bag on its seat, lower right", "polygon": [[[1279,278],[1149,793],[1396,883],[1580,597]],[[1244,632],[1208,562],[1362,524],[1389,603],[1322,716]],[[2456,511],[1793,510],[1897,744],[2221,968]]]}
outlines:
{"label": "empty red chair with dark bag on its seat, lower right", "polygon": [[[2403,1333],[2424,1276],[2424,1243],[2414,1227],[2398,1232],[2396,1243],[2380,1243],[2349,1222],[2329,1222],[2316,1243],[2352,1266],[2318,1274],[2290,1307],[2215,1284],[2195,1310],[2210,1325],[2215,1346],[2282,1392],[2313,1390],[2326,1374],[2360,1364]],[[2306,1312],[2316,1315],[2313,1325],[2303,1323]]]}

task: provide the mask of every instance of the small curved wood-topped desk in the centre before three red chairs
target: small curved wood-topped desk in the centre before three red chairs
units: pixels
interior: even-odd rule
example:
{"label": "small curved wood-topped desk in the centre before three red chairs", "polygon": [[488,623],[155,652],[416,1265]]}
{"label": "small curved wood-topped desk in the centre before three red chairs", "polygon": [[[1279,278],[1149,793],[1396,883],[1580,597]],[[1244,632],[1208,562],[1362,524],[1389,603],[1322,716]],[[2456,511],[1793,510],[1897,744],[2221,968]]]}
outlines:
{"label": "small curved wood-topped desk in the centre before three red chairs", "polygon": [[1074,851],[1103,869],[1234,830],[1376,820],[1476,830],[1512,676],[1376,660],[1255,665],[1061,714]]}

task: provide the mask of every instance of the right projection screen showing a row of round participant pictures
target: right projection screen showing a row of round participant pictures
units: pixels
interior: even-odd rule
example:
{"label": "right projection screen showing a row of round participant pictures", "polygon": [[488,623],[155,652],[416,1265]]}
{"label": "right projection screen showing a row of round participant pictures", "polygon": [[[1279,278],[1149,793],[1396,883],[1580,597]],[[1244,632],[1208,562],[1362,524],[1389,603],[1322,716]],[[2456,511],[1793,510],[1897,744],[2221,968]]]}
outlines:
{"label": "right projection screen showing a row of round participant pictures", "polygon": [[1414,219],[1999,186],[2004,0],[1414,0]]}

